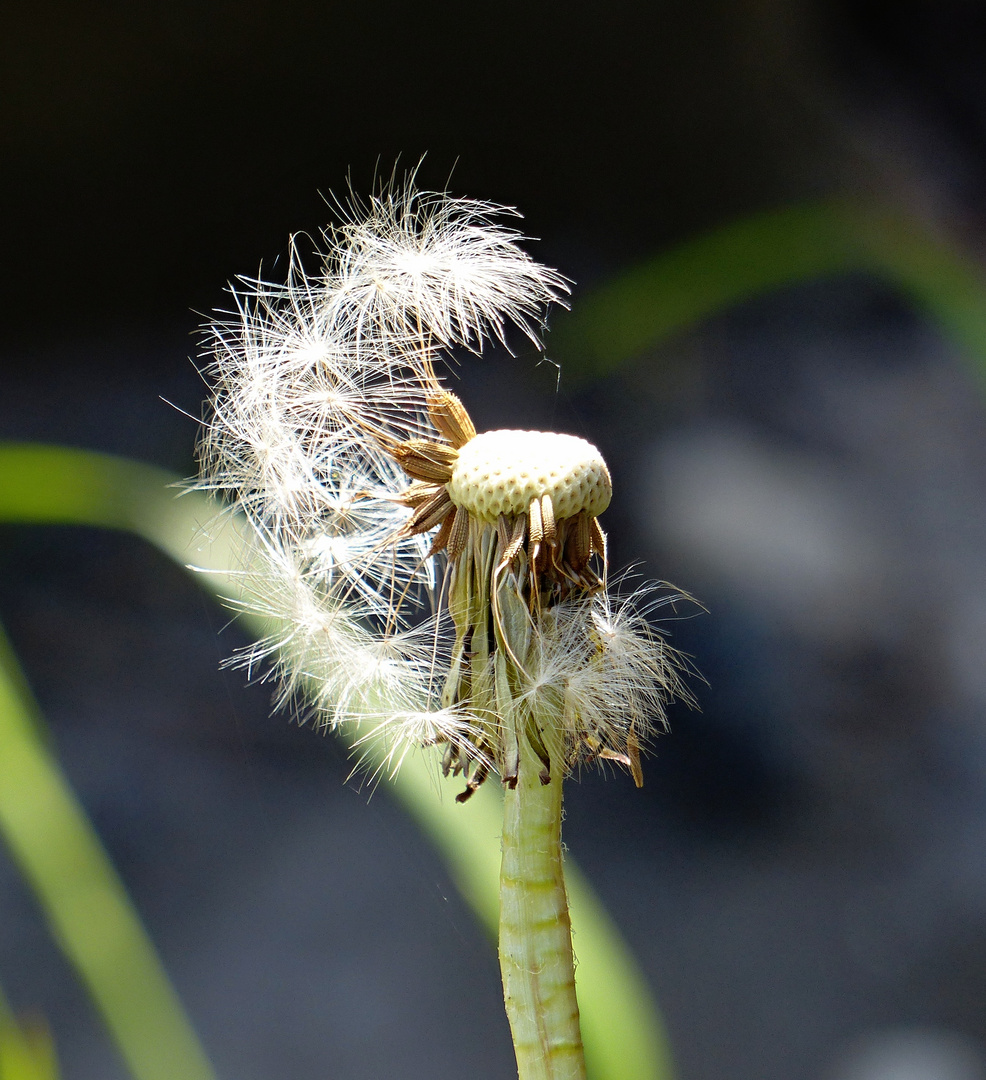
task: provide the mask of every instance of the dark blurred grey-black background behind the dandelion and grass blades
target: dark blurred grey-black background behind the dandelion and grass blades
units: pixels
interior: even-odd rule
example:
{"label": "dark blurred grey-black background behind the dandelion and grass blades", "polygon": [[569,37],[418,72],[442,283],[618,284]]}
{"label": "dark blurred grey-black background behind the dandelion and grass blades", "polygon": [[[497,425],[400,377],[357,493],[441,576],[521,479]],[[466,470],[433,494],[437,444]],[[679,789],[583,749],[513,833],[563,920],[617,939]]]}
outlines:
{"label": "dark blurred grey-black background behind the dandelion and grass blades", "polygon": [[[2,438],[193,473],[197,328],[226,282],[276,278],[288,234],[397,160],[521,207],[576,281],[557,367],[518,348],[458,390],[481,429],[596,443],[614,564],[708,610],[666,624],[707,685],[644,789],[585,774],[567,796],[680,1080],[986,1078],[986,368],[861,271],[606,362],[580,302],[830,199],[977,272],[984,31],[969,0],[2,15]],[[340,745],[219,671],[245,638],[180,569],[123,535],[4,526],[0,620],[220,1077],[511,1075],[494,949],[437,856]],[[2,853],[0,912],[0,983],[65,1077],[123,1077]]]}

